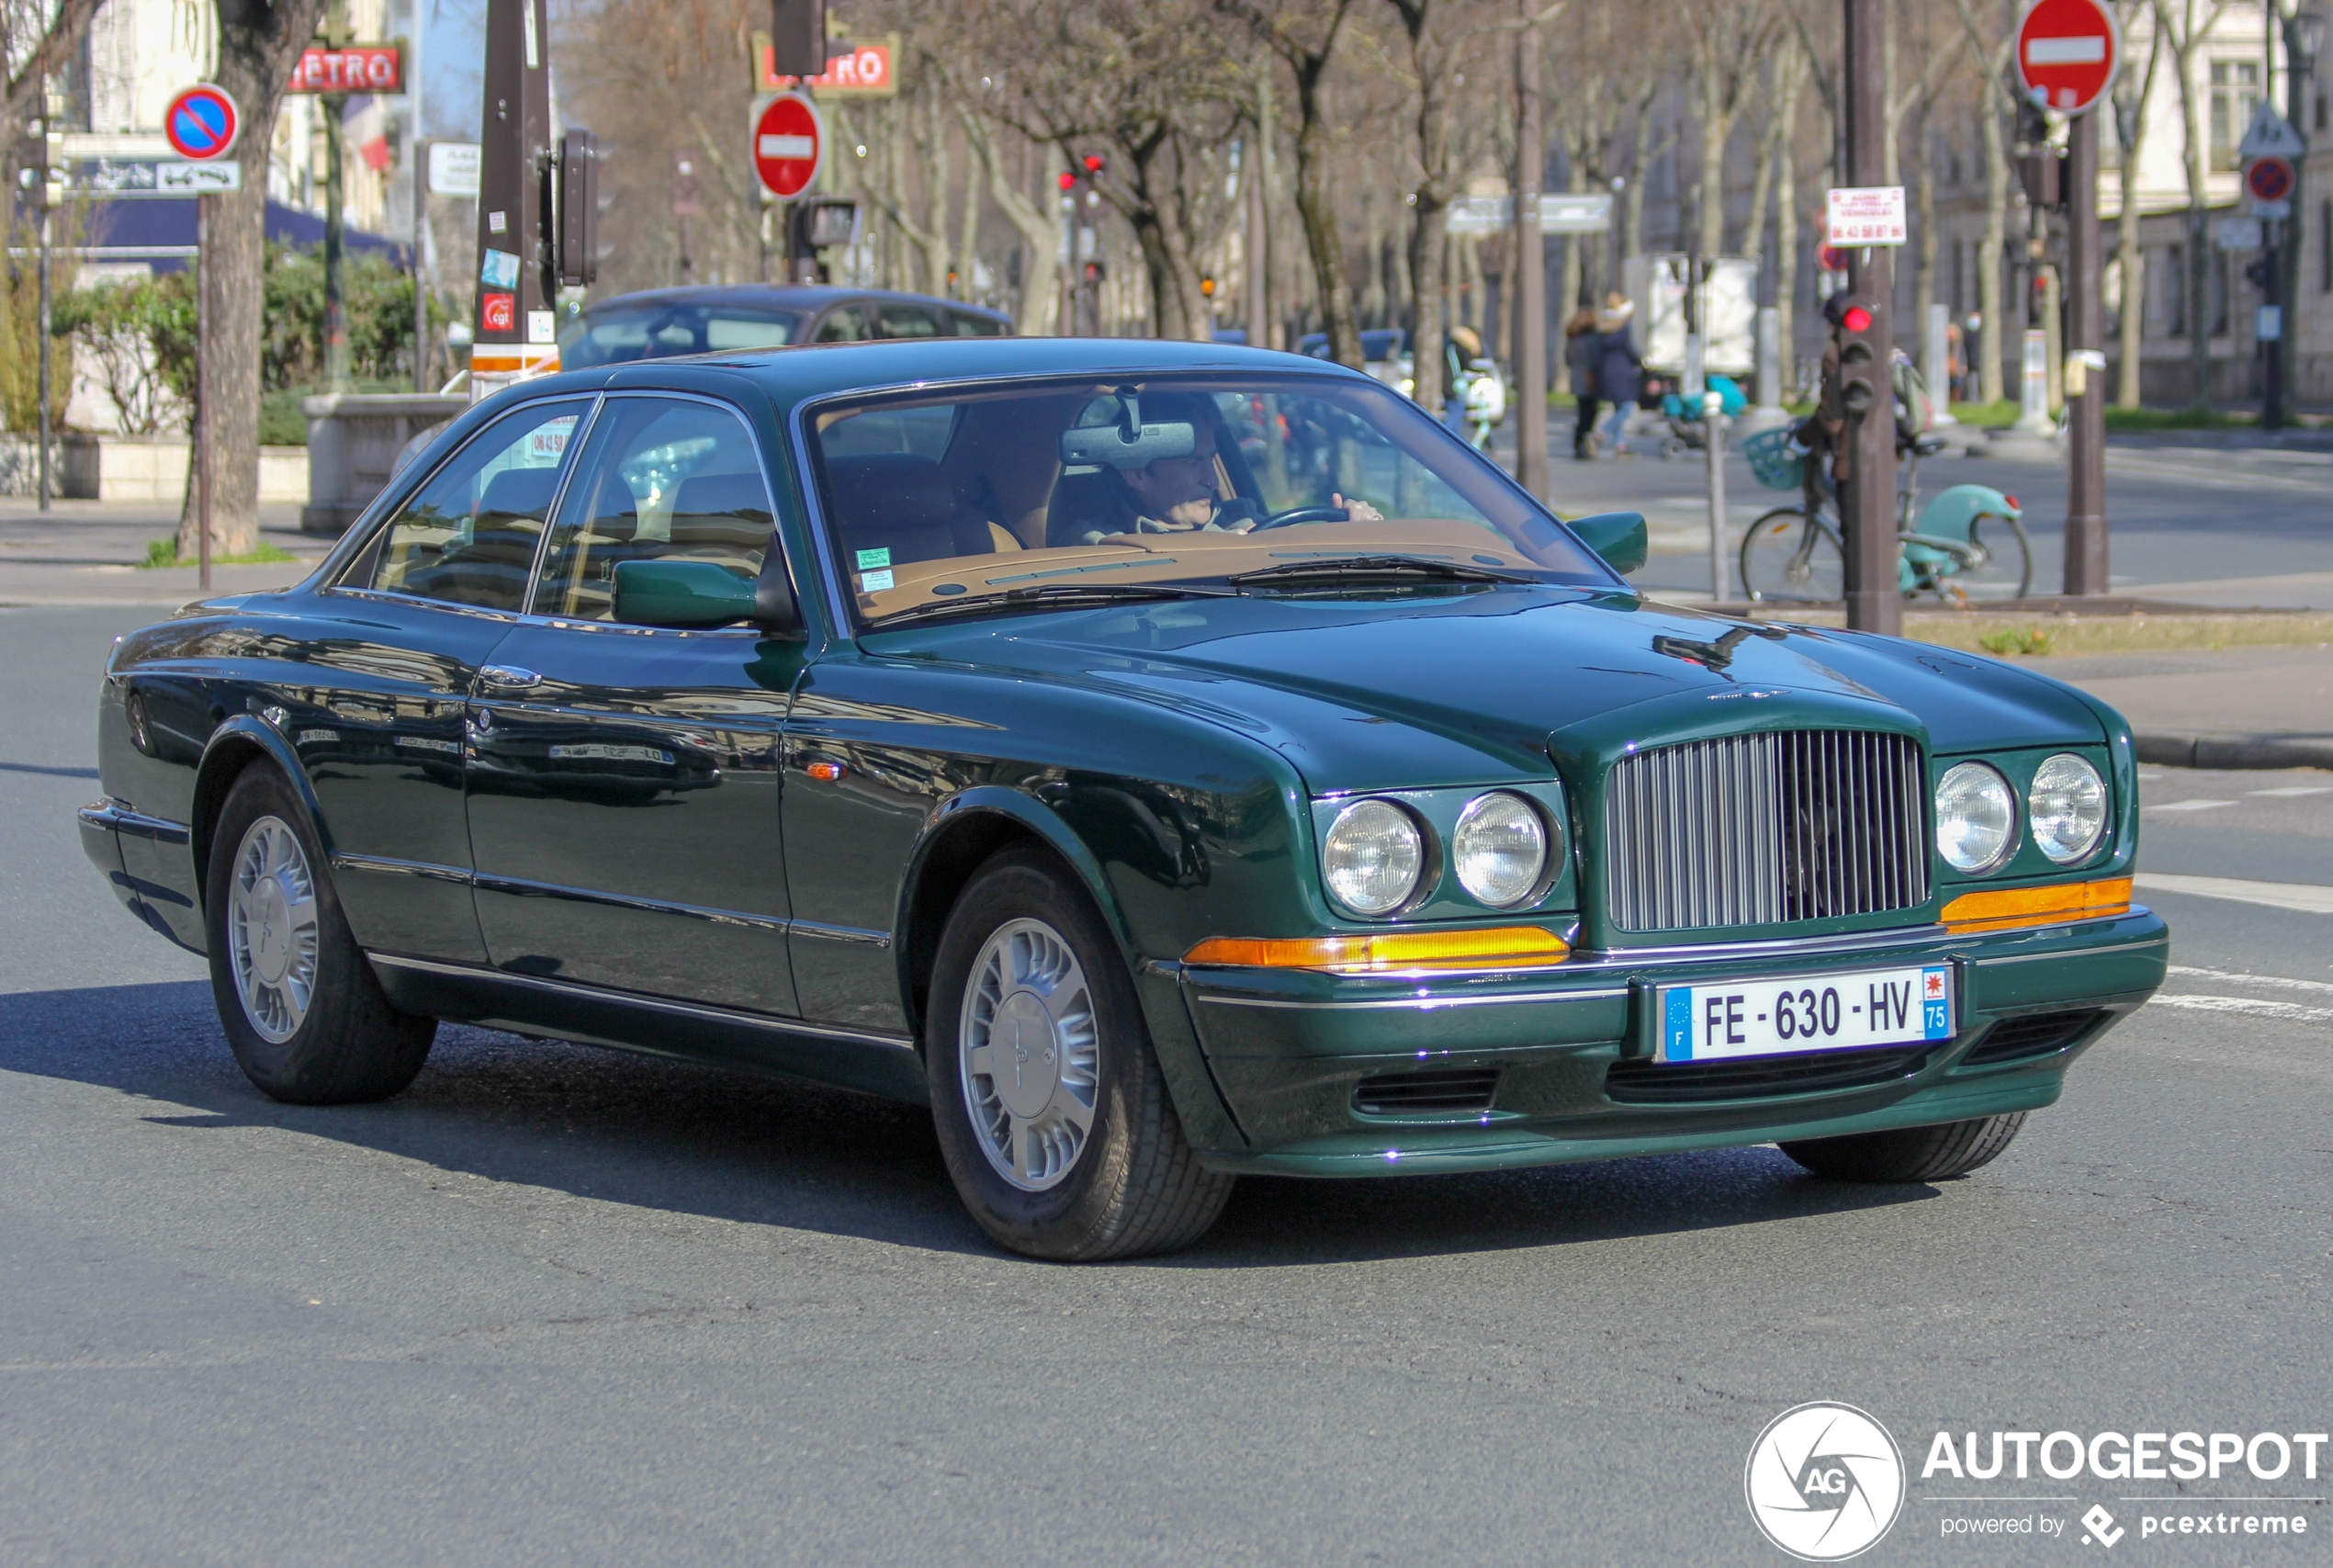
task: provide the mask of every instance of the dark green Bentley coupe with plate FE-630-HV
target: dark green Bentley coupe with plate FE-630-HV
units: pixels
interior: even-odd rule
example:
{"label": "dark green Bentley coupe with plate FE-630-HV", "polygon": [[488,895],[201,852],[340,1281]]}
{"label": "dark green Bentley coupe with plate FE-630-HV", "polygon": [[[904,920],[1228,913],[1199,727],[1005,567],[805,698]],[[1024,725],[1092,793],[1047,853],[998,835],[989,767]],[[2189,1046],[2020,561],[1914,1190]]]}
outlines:
{"label": "dark green Bentley coupe with plate FE-630-HV", "polygon": [[1976,1169],[2163,980],[2130,730],[1642,560],[1292,355],[572,371],[124,637],[82,838],[266,1094],[439,1020],[847,1085],[1041,1258],[1241,1171]]}

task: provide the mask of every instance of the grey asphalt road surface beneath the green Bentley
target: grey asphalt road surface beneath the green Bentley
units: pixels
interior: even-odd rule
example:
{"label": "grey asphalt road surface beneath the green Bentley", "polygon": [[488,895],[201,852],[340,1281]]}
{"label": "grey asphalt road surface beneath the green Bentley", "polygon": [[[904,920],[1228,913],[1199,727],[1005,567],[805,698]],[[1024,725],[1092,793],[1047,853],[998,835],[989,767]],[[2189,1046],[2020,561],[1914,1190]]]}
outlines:
{"label": "grey asphalt road surface beneath the green Bentley", "polygon": [[[133,618],[0,611],[9,1566],[1782,1563],[1743,1463],[1803,1400],[1906,1449],[1859,1561],[2081,1559],[2090,1503],[2116,1559],[2326,1556],[2321,1500],[2163,1542],[2123,1503],[2163,1484],[1920,1465],[1939,1430],[2328,1430],[2333,915],[2242,889],[2333,887],[2333,793],[2261,793],[2333,775],[2151,772],[2144,868],[2237,896],[2151,894],[2170,1001],[1967,1181],[1248,1181],[1190,1253],[1052,1267],[849,1094],[448,1029],[390,1104],[261,1099],[75,840]],[[2018,1500],[1936,1500],[1971,1491]],[[1943,1533],[1995,1514],[2062,1533]]]}

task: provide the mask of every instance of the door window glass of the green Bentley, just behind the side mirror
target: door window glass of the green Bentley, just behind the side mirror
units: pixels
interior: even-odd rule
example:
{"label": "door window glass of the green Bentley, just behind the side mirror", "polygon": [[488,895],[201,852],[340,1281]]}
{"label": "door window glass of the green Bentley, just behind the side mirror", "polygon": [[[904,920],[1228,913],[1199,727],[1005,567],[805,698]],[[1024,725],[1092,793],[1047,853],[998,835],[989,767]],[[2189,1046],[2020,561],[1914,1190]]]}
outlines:
{"label": "door window glass of the green Bentley, just behind the side mirror", "polygon": [[751,427],[677,397],[611,397],[567,485],[534,614],[609,621],[628,560],[712,560],[751,581],[775,513]]}

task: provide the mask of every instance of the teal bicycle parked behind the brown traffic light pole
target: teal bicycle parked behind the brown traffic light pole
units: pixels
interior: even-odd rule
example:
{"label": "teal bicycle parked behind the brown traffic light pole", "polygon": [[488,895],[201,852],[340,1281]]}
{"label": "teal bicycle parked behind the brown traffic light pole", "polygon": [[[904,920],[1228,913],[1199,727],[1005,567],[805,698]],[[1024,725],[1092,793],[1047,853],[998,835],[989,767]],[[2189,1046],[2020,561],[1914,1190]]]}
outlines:
{"label": "teal bicycle parked behind the brown traffic light pole", "polygon": [[[1943,441],[1899,441],[1904,478],[1897,490],[1897,583],[1904,597],[1934,595],[1948,604],[2023,600],[2034,581],[2032,541],[2018,497],[1992,485],[1953,485],[1913,520],[1920,460]],[[1838,604],[1848,593],[1848,553],[1836,497],[1815,497],[1806,455],[1792,429],[1768,429],[1743,441],[1750,471],[1768,490],[1801,490],[1808,502],[1775,506],[1743,534],[1743,593],[1759,604]],[[1824,488],[1829,488],[1824,483]]]}

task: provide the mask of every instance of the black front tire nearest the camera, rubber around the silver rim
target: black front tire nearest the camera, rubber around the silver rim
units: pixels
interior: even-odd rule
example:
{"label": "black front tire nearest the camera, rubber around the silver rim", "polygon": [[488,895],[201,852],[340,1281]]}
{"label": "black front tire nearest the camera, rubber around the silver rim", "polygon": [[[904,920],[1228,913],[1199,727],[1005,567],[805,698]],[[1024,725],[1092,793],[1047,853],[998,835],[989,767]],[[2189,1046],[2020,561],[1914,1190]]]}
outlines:
{"label": "black front tire nearest the camera, rubber around the silver rim", "polygon": [[[1013,922],[1043,922],[1076,957],[1097,1043],[1092,1125],[1066,1174],[1043,1190],[1006,1178],[1003,1155],[992,1160],[989,1134],[975,1129],[966,1087],[964,996],[989,938]],[[1234,1178],[1204,1169],[1183,1136],[1118,943],[1085,889],[1052,856],[1001,849],[973,875],[940,933],[924,1017],[924,1071],[940,1153],[964,1206],[999,1244],[1031,1258],[1134,1258],[1187,1246],[1222,1213]],[[1052,1062],[1050,1050],[1045,1059]],[[1069,1050],[1062,1062],[1066,1078]],[[985,1104],[994,1122],[999,1101]]]}

